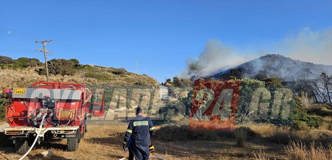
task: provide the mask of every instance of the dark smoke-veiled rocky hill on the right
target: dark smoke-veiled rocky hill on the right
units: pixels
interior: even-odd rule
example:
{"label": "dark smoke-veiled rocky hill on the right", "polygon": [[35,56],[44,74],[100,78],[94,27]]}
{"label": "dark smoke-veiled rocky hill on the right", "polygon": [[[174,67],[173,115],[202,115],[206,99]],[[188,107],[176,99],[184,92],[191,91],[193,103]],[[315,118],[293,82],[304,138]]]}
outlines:
{"label": "dark smoke-veiled rocky hill on the right", "polygon": [[292,81],[295,79],[313,79],[322,72],[331,73],[331,65],[314,64],[300,60],[293,60],[282,55],[265,55],[234,68],[229,68],[210,76],[218,80],[226,80],[230,76],[237,78],[265,78],[276,77],[281,81]]}

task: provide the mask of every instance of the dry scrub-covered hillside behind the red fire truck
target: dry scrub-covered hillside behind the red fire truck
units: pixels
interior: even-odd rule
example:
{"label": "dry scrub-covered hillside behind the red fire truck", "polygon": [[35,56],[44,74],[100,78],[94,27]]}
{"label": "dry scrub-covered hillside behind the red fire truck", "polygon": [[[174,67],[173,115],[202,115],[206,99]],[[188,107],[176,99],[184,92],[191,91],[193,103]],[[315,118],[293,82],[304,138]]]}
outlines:
{"label": "dry scrub-covered hillside behind the red fire truck", "polygon": [[[57,60],[68,61],[64,59]],[[60,66],[64,65],[63,63],[59,63],[59,65],[56,65],[55,62],[57,60],[52,60],[52,64],[54,64],[54,66],[52,66],[52,64],[49,64],[50,81],[83,83],[85,85],[133,85],[135,83],[142,85],[159,85],[157,80],[150,76],[127,72],[124,68],[123,73],[121,73],[119,72],[119,68],[83,65],[76,63],[75,66],[79,67],[63,67],[65,69],[69,68],[69,72],[63,68],[60,68]],[[41,73],[44,69],[44,66],[43,63],[39,62],[39,60],[38,63],[40,64],[34,66],[24,66],[15,60],[14,62],[11,62],[9,64],[1,62],[3,61],[0,61],[1,89],[13,87],[27,87],[33,85],[37,81],[46,81],[46,76],[44,75],[44,73]],[[56,74],[52,74],[52,72],[55,72]],[[60,72],[61,74],[59,74],[58,72]]]}

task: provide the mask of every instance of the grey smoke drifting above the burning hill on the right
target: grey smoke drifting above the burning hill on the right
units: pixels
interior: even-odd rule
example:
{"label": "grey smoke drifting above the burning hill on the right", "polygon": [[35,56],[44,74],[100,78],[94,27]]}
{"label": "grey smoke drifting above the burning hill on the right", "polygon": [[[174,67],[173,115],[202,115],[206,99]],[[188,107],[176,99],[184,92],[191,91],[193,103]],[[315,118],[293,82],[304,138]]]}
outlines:
{"label": "grey smoke drifting above the burning hill on the right", "polygon": [[[262,47],[264,48],[264,47]],[[187,72],[190,75],[210,76],[266,54],[277,53],[295,60],[317,64],[332,64],[332,27],[323,31],[312,31],[309,27],[300,29],[296,34],[287,36],[273,46],[267,46],[266,53],[251,51],[255,54],[238,53],[235,49],[222,45],[220,40],[209,40],[198,58],[188,58]],[[255,66],[261,70],[263,66]]]}

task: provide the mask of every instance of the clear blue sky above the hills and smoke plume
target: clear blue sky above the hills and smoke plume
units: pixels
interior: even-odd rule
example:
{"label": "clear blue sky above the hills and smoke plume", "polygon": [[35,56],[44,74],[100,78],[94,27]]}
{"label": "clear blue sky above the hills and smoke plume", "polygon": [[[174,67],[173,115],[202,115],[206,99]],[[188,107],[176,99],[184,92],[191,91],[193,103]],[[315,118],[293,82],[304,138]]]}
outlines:
{"label": "clear blue sky above the hills and smoke plume", "polygon": [[331,7],[332,1],[2,1],[0,55],[42,60],[34,41],[47,38],[54,41],[49,59],[135,72],[139,57],[138,73],[163,82],[186,70],[188,57],[198,57],[210,39],[246,54],[273,51],[303,27],[331,27]]}

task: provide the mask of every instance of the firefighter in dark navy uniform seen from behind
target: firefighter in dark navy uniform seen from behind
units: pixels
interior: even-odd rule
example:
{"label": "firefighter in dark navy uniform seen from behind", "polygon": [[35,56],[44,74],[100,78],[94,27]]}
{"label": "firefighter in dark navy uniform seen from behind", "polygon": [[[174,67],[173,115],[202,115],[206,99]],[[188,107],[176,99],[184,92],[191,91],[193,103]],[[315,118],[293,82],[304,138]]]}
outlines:
{"label": "firefighter in dark navy uniform seen from behind", "polygon": [[129,122],[125,132],[123,149],[128,151],[127,145],[130,139],[130,149],[136,160],[149,160],[150,137],[154,135],[155,128],[149,118],[143,117],[143,109],[136,108],[136,117]]}

